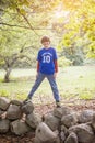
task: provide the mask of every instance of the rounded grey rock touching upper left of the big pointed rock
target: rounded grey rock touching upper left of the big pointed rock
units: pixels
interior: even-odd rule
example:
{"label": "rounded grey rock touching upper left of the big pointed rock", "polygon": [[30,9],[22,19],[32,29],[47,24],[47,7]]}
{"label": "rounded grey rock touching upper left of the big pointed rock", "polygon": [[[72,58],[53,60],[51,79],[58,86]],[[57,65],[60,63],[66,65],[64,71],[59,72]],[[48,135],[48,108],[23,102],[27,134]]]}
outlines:
{"label": "rounded grey rock touching upper left of the big pointed rock", "polygon": [[31,113],[26,116],[26,123],[33,129],[36,129],[40,121],[41,118],[39,117],[39,114]]}

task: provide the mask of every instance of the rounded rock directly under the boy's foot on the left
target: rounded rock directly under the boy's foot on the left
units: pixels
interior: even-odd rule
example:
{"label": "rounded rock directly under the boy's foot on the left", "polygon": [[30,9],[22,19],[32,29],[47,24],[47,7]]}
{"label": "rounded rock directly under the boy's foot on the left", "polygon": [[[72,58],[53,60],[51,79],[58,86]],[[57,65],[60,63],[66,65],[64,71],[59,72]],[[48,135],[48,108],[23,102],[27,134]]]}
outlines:
{"label": "rounded rock directly under the boy's foot on the left", "polygon": [[25,105],[22,106],[22,111],[25,114],[32,113],[33,110],[34,110],[34,106],[33,106],[32,101],[28,101],[27,103],[25,103]]}

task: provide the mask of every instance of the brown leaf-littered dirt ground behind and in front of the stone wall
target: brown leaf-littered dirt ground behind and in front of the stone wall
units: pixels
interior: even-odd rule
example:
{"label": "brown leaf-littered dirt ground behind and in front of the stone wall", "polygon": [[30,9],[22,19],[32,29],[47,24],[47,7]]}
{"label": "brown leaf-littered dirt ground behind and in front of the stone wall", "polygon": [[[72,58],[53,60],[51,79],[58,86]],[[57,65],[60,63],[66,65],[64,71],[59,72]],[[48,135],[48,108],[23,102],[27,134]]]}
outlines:
{"label": "brown leaf-littered dirt ground behind and in front of the stone wall", "polygon": [[[84,109],[95,110],[95,99],[62,101],[62,106],[70,107],[74,111],[82,111]],[[35,111],[43,116],[50,112],[54,108],[55,108],[55,103],[40,105],[40,106],[35,106]],[[0,143],[33,143],[34,136],[35,136],[34,132],[29,132],[21,136],[14,135],[9,132],[7,134],[0,134]]]}

